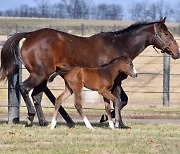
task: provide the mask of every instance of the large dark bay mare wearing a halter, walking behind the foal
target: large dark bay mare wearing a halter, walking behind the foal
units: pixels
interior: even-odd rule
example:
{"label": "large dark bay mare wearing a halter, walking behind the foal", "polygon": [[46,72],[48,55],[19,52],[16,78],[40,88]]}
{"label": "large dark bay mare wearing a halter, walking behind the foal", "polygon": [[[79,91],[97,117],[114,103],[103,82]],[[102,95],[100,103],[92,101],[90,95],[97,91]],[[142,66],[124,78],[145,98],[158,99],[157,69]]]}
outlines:
{"label": "large dark bay mare wearing a halter, walking behind the foal", "polygon": [[[22,38],[26,39],[21,52],[18,53],[17,45]],[[47,80],[53,72],[75,66],[98,67],[120,56],[134,59],[149,45],[170,54],[173,59],[180,57],[179,46],[168,31],[165,18],[157,22],[133,24],[124,30],[99,33],[91,37],[74,36],[49,28],[16,33],[2,47],[0,80],[11,76],[16,57],[22,59],[30,73],[30,76],[20,84],[20,92],[28,110],[27,125],[32,124],[35,109],[40,125],[47,125],[42,112],[41,98]],[[121,98],[120,110],[128,101],[121,87],[121,82],[126,77],[126,74],[120,73],[112,88],[113,94],[119,100]],[[35,109],[29,98],[31,89]],[[126,128],[121,112],[119,116],[119,128]]]}

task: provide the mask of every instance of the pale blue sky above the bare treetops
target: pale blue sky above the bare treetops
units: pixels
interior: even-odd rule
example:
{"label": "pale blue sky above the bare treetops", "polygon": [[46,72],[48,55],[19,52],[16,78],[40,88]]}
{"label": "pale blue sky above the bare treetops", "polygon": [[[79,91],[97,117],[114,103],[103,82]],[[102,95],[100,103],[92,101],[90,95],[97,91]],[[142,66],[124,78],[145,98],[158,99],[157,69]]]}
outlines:
{"label": "pale blue sky above the bare treetops", "polygon": [[[115,4],[121,4],[123,7],[127,8],[129,5],[131,5],[133,2],[157,2],[158,0],[90,0],[93,1],[95,4],[98,3],[115,3]],[[175,5],[179,0],[163,0],[166,3],[171,3],[172,5]],[[51,4],[60,2],[60,0],[49,0]],[[7,10],[10,8],[16,8],[19,7],[22,4],[28,4],[29,6],[37,6],[36,0],[0,0],[0,10]]]}

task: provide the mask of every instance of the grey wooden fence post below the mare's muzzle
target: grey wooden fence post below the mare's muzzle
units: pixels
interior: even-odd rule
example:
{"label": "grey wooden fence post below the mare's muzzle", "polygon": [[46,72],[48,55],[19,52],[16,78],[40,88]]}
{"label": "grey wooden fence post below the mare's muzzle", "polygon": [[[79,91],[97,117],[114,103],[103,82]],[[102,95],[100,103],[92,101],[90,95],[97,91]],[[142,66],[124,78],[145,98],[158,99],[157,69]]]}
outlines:
{"label": "grey wooden fence post below the mare's muzzle", "polygon": [[169,106],[170,56],[163,54],[163,106]]}

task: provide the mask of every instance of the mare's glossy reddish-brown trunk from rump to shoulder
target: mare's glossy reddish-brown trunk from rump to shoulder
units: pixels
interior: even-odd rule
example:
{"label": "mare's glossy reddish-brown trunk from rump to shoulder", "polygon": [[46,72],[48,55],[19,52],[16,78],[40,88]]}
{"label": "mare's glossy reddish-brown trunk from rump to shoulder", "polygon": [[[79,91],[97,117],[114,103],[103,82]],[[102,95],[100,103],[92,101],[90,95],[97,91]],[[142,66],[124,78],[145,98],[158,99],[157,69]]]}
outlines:
{"label": "mare's glossy reddish-brown trunk from rump to shoulder", "polygon": [[56,68],[99,67],[109,63],[118,53],[106,41],[102,34],[79,37],[45,28],[29,33],[21,54],[29,72],[44,70],[48,76]]}

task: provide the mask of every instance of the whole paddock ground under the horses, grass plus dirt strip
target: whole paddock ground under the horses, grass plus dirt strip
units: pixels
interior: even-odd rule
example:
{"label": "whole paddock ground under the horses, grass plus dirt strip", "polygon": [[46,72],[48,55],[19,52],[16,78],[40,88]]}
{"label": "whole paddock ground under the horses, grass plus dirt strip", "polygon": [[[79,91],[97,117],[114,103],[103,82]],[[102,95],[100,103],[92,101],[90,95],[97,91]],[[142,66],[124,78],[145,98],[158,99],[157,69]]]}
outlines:
{"label": "whole paddock ground under the horses, grass plus dirt strip", "polygon": [[[179,109],[124,110],[124,122],[128,130],[111,130],[108,123],[99,124],[104,111],[86,109],[94,131],[85,127],[74,109],[67,112],[77,122],[69,128],[58,117],[54,130],[40,127],[35,119],[32,127],[25,127],[26,111],[21,111],[21,122],[7,124],[7,111],[0,114],[0,153],[4,154],[179,154],[180,153],[180,113]],[[52,111],[45,109],[50,122]],[[4,117],[4,119],[3,119]]]}

